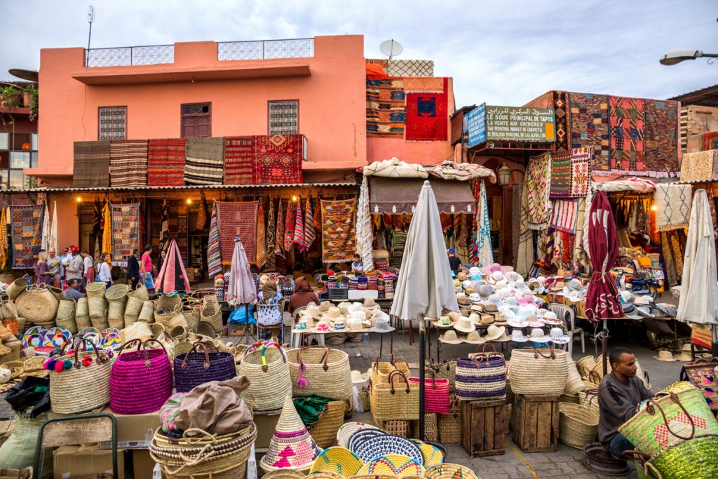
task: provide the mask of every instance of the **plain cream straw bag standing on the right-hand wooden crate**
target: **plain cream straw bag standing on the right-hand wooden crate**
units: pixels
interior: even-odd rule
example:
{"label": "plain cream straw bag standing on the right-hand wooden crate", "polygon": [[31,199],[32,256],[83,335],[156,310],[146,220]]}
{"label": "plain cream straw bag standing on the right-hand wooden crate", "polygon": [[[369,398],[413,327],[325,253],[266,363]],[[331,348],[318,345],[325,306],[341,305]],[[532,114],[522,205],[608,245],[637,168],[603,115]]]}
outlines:
{"label": "plain cream straw bag standing on the right-hand wooden crate", "polygon": [[516,394],[560,396],[568,378],[567,352],[523,348],[511,352],[511,389]]}

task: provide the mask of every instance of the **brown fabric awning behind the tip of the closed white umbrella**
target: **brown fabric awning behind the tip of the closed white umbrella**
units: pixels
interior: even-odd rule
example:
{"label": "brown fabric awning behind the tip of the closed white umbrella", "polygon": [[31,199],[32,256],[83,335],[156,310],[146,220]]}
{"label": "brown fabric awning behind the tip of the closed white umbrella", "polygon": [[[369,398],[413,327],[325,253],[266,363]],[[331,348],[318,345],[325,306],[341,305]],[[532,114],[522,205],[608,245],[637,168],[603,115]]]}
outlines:
{"label": "brown fabric awning behind the tip of the closed white umbrella", "polygon": [[[421,178],[371,177],[371,213],[413,213],[419,200]],[[468,182],[429,178],[439,213],[475,213],[474,195]]]}

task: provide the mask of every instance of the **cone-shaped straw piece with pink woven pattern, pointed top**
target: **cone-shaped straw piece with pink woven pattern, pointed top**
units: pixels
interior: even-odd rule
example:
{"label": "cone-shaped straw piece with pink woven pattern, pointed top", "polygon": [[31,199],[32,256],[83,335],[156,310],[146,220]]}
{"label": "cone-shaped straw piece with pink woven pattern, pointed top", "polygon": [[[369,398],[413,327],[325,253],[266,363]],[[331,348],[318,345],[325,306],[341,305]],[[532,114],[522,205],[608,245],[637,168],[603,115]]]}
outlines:
{"label": "cone-shaped straw piece with pink woven pattern, pointed top", "polygon": [[309,470],[322,453],[304,427],[291,397],[284,398],[279,422],[269,442],[269,450],[259,462],[266,472],[272,470]]}

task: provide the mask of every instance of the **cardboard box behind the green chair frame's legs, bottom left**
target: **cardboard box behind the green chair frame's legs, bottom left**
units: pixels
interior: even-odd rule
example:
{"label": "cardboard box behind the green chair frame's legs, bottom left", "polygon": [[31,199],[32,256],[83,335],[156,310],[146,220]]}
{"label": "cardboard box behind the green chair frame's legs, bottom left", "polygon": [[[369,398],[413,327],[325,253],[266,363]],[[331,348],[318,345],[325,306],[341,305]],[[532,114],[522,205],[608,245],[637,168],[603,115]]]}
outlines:
{"label": "cardboard box behind the green chair frame's legs, bottom left", "polygon": [[[112,451],[98,447],[61,446],[52,454],[55,479],[72,479],[85,474],[112,474]],[[124,451],[117,450],[117,479],[123,479]]]}

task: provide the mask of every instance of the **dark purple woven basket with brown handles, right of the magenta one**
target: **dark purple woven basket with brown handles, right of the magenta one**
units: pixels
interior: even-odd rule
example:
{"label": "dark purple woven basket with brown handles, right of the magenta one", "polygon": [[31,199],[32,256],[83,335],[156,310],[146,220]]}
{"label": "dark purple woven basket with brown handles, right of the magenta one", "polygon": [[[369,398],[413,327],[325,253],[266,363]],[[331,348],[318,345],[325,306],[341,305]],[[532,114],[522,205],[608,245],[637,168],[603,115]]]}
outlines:
{"label": "dark purple woven basket with brown handles, right of the magenta one", "polygon": [[[197,350],[201,349],[202,352]],[[237,376],[234,356],[208,348],[204,343],[192,345],[189,353],[174,358],[174,386],[178,393],[191,391],[210,381],[226,381]]]}

